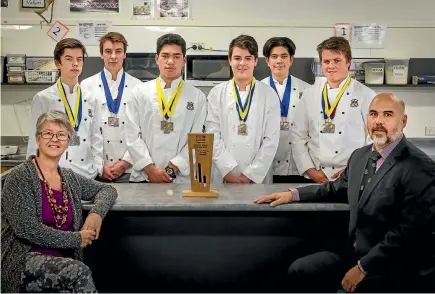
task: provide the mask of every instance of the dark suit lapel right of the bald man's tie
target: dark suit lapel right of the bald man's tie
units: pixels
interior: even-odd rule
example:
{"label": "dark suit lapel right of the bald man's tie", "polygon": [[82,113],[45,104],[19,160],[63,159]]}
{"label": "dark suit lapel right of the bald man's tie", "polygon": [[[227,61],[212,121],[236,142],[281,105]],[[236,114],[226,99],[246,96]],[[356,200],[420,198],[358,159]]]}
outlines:
{"label": "dark suit lapel right of the bald man's tie", "polygon": [[403,148],[405,146],[406,146],[406,139],[405,139],[405,137],[403,137],[402,141],[396,146],[396,148],[394,148],[394,150],[387,157],[387,159],[384,161],[384,163],[381,165],[381,167],[376,171],[376,173],[372,177],[370,183],[367,184],[367,187],[364,189],[364,191],[361,195],[361,199],[358,203],[359,208],[364,207],[364,205],[370,199],[370,196],[372,195],[373,190],[376,188],[376,186],[379,184],[379,182],[382,180],[382,178],[397,163],[397,157],[399,157],[402,154]]}

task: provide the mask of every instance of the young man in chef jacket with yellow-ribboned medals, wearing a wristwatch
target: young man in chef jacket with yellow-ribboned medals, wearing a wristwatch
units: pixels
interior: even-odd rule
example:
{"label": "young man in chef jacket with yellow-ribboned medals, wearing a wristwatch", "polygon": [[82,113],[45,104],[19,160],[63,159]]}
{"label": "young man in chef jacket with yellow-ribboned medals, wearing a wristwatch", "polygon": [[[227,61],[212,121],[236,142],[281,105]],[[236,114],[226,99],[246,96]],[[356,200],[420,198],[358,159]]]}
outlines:
{"label": "young man in chef jacket with yellow-ribboned medals, wearing a wristwatch", "polygon": [[203,131],[206,97],[184,83],[186,41],[177,34],[157,40],[160,76],[133,90],[127,102],[127,150],[133,161],[131,181],[189,183],[187,138]]}

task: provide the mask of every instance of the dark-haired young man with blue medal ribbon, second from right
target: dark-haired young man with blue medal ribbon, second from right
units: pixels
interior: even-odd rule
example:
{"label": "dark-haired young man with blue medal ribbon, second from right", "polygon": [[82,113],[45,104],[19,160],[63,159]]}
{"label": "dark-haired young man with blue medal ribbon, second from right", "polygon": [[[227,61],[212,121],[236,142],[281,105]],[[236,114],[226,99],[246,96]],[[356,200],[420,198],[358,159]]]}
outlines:
{"label": "dark-haired young man with blue medal ribbon, second from right", "polygon": [[292,155],[290,132],[293,120],[302,98],[302,92],[310,84],[290,75],[296,45],[287,37],[273,37],[266,41],[263,56],[270,68],[270,76],[262,82],[270,85],[280,99],[281,123],[278,151],[273,160],[274,183],[303,183],[306,179],[299,175]]}

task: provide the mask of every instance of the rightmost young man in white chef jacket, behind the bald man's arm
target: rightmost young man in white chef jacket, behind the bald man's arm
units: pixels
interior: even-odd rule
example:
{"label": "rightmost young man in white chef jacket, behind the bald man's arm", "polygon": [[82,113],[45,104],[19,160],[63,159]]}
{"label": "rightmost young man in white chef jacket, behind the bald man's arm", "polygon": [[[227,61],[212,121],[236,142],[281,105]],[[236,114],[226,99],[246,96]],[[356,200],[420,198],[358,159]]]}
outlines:
{"label": "rightmost young man in white chef jacket, behind the bald man's arm", "polygon": [[335,180],[352,152],[369,143],[366,120],[376,93],[349,76],[352,52],[343,37],[317,46],[326,81],[304,91],[293,122],[292,152],[301,175]]}

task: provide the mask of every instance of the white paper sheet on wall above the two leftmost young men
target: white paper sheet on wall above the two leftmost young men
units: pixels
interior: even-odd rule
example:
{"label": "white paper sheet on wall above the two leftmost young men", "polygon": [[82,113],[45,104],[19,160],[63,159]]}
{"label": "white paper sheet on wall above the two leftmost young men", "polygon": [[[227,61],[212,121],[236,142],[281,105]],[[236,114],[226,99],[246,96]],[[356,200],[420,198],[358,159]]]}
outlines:
{"label": "white paper sheet on wall above the two leftmost young men", "polygon": [[110,21],[78,21],[77,36],[85,46],[100,45],[100,38],[110,31]]}

